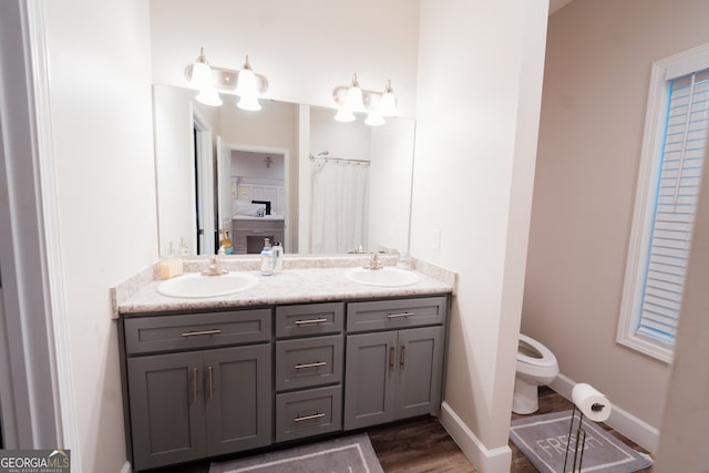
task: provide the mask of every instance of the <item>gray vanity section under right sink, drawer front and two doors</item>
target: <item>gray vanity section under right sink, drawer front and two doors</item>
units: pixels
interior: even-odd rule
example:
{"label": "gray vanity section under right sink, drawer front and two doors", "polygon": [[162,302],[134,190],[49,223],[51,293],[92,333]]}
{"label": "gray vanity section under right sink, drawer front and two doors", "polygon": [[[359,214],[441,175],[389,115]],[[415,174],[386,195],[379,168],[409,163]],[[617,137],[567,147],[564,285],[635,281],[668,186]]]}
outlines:
{"label": "gray vanity section under right sink, drawer front and two doors", "polygon": [[439,411],[446,313],[446,297],[348,305],[345,430]]}

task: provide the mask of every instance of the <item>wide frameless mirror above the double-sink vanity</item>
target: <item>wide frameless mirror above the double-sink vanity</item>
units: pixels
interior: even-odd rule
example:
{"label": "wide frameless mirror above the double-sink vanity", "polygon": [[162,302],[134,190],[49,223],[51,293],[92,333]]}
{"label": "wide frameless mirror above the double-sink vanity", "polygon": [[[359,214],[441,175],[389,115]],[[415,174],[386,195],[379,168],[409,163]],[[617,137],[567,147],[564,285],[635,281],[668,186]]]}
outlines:
{"label": "wide frameless mirror above the double-sink vanity", "polygon": [[261,100],[246,112],[234,96],[218,107],[194,96],[153,88],[161,254],[214,254],[222,230],[236,254],[265,237],[286,253],[408,250],[413,119],[369,126],[333,109]]}

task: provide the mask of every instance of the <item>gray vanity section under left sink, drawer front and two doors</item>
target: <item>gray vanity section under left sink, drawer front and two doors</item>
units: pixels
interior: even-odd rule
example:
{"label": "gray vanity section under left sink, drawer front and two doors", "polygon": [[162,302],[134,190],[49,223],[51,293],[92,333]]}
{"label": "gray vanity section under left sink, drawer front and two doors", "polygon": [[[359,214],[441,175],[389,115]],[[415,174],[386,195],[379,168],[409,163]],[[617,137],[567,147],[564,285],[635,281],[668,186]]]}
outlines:
{"label": "gray vanity section under left sink, drawer front and two doors", "polygon": [[136,471],[271,443],[270,309],[123,323]]}

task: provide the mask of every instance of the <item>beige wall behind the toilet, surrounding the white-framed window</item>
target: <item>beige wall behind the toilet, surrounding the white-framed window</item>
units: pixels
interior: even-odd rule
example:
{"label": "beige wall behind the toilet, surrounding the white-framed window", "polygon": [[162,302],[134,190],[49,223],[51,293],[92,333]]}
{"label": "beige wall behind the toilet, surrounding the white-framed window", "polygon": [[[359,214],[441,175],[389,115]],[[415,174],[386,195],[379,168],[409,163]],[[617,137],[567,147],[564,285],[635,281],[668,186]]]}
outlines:
{"label": "beige wall behind the toilet, surrounding the white-framed window", "polygon": [[666,363],[616,343],[654,61],[709,41],[709,2],[575,0],[549,19],[522,332],[659,428]]}

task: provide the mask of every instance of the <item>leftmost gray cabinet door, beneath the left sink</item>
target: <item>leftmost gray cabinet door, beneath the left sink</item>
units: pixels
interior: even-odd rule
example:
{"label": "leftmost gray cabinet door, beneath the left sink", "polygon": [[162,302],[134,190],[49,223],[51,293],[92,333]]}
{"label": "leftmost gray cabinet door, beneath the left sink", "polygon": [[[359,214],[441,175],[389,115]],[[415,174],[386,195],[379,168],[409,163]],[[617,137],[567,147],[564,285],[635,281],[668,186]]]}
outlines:
{"label": "leftmost gray cabinet door, beneath the left sink", "polygon": [[134,470],[205,456],[202,352],[132,358],[127,364]]}

